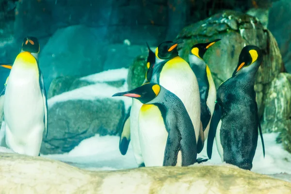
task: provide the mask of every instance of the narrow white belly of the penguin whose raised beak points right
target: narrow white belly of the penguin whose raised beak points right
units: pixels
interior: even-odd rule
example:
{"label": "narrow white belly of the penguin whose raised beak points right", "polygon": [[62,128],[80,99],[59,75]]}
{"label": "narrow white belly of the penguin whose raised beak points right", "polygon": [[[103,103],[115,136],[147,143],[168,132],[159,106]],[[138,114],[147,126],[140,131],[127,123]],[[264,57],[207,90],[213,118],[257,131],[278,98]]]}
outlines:
{"label": "narrow white belly of the penguin whose raised beak points right", "polygon": [[209,127],[210,127],[210,121],[214,112],[214,106],[215,106],[215,100],[216,100],[216,89],[215,89],[215,85],[214,85],[214,81],[212,79],[212,77],[209,78],[209,92],[208,92],[208,98],[206,101],[206,104],[210,110],[210,120],[209,123],[206,127],[206,129],[204,130],[204,141],[207,139],[208,137],[208,133],[209,133]]}

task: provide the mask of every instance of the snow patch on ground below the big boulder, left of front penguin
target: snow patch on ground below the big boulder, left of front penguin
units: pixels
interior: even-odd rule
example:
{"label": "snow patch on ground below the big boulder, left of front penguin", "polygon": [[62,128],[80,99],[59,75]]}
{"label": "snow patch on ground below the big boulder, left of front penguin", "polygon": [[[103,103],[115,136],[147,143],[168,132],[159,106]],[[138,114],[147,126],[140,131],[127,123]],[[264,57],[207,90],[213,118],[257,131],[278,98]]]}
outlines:
{"label": "snow patch on ground below the big boulder, left of front penguin", "polygon": [[119,152],[118,136],[99,136],[83,140],[73,150],[65,154],[41,155],[42,157],[71,163],[86,170],[118,170],[136,168],[131,144],[128,153]]}

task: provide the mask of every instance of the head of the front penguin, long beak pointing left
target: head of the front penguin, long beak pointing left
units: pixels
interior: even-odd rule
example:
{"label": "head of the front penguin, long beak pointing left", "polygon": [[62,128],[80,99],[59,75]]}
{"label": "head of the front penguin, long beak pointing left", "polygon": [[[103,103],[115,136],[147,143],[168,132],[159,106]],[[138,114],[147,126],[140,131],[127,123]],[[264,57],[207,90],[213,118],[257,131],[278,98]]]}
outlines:
{"label": "head of the front penguin, long beak pointing left", "polygon": [[159,95],[161,86],[157,83],[144,83],[143,85],[130,90],[128,92],[119,92],[113,95],[113,97],[133,97],[146,104],[152,101]]}

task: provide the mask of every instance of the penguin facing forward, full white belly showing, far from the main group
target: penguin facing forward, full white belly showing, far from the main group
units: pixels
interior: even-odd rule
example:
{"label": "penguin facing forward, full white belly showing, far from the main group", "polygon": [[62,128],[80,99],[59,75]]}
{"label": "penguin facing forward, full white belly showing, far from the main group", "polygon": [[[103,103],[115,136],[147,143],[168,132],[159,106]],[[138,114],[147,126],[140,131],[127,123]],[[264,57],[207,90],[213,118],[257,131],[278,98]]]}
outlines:
{"label": "penguin facing forward, full white belly showing, far from the main group", "polygon": [[19,154],[30,156],[39,156],[44,130],[46,136],[48,134],[48,104],[38,66],[39,48],[37,38],[24,38],[4,96],[6,145]]}

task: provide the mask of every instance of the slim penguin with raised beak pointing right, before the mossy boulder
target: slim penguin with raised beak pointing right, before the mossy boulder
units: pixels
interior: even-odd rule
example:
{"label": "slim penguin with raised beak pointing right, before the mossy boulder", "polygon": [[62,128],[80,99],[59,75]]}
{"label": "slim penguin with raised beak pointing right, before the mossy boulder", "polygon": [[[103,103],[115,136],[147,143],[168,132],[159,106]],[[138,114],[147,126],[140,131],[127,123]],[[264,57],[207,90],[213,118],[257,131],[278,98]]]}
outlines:
{"label": "slim penguin with raised beak pointing right, before the mossy boulder", "polygon": [[196,75],[199,85],[201,108],[200,120],[204,132],[204,141],[207,139],[210,119],[214,111],[216,89],[209,66],[203,60],[203,56],[207,49],[220,40],[221,39],[216,39],[212,42],[196,44],[189,52],[189,63]]}

